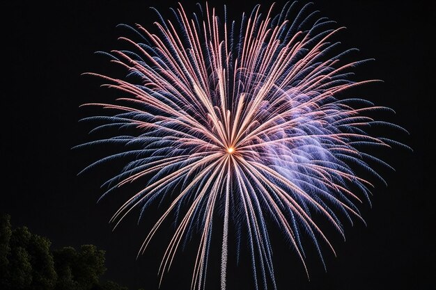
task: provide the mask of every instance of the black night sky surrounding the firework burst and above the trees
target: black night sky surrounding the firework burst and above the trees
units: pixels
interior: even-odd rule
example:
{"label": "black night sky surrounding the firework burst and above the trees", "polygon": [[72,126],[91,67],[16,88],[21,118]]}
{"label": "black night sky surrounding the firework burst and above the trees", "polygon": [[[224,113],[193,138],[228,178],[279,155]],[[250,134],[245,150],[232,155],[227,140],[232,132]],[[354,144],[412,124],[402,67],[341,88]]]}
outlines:
{"label": "black night sky surrounding the firework burst and above the trees", "polygon": [[[53,248],[93,243],[107,251],[105,277],[119,284],[157,289],[157,267],[164,239],[136,259],[147,220],[137,225],[132,214],[112,232],[111,214],[122,194],[97,204],[100,184],[108,172],[77,173],[102,152],[71,150],[91,138],[78,122],[86,102],[107,99],[111,92],[83,72],[109,72],[107,60],[94,51],[116,49],[123,31],[116,24],[151,27],[176,1],[79,1],[45,4],[2,1],[1,10],[1,201],[0,211],[14,226],[27,225],[49,237]],[[63,2],[63,1],[59,1]],[[89,3],[88,3],[89,2]],[[194,11],[194,3],[184,7]],[[238,1],[230,1],[233,7]],[[209,1],[222,8],[222,1]],[[279,3],[281,3],[279,1]],[[263,1],[269,6],[270,1]],[[240,19],[254,3],[235,5]],[[367,226],[345,225],[344,243],[334,232],[337,257],[325,255],[327,273],[309,259],[309,282],[292,250],[277,246],[274,259],[281,289],[436,289],[435,286],[435,99],[433,41],[435,7],[416,1],[315,1],[321,11],[348,29],[339,35],[343,48],[360,49],[358,58],[375,58],[359,69],[360,79],[384,83],[364,88],[361,97],[394,108],[387,118],[410,131],[396,136],[414,149],[395,148],[382,156],[396,172],[383,169],[388,187],[377,184],[373,207],[362,204]],[[219,245],[217,247],[219,249]],[[178,255],[161,289],[189,289],[192,250]],[[248,264],[231,266],[229,289],[252,289]],[[209,289],[218,269],[211,268]],[[215,272],[213,272],[215,271]],[[176,287],[176,288],[175,288]]]}

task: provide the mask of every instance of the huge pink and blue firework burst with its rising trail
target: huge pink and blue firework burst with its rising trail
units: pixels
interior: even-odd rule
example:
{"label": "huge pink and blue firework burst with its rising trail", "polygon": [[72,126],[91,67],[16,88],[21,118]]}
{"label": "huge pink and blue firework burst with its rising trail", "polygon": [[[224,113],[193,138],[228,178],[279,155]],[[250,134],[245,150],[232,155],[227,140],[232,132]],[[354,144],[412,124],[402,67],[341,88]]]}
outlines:
{"label": "huge pink and blue firework burst with its rising trail", "polygon": [[[256,289],[258,284],[266,289],[268,281],[276,289],[267,216],[283,229],[306,269],[302,234],[311,237],[321,260],[318,240],[334,252],[311,214],[322,213],[344,236],[339,216],[350,223],[353,217],[363,220],[355,202],[368,200],[368,188],[373,187],[352,168],[363,168],[382,180],[367,161],[389,167],[359,148],[401,145],[364,130],[372,125],[403,130],[368,116],[391,109],[364,99],[335,97],[373,82],[350,81],[350,69],[368,61],[341,64],[341,58],[355,49],[334,53],[338,42],[332,38],[343,28],[330,29],[334,22],[316,18],[317,12],[307,13],[309,4],[294,19],[290,14],[295,3],[287,3],[276,16],[273,8],[264,17],[256,6],[249,17],[242,15],[238,27],[236,22],[229,25],[227,16],[221,23],[208,5],[201,8],[201,17],[189,18],[179,4],[173,10],[176,22],[157,13],[157,34],[140,25],[123,25],[141,35],[143,43],[123,37],[120,40],[132,51],[104,54],[128,70],[127,80],[89,73],[126,95],[118,104],[88,104],[119,112],[86,118],[105,122],[93,131],[133,128],[137,135],[84,144],[126,147],[85,170],[136,156],[104,184],[107,193],[148,178],[111,221],[117,226],[137,207],[142,216],[150,204],[181,188],[139,251],[146,250],[164,220],[180,216],[159,268],[161,282],[176,252],[199,227],[192,289],[204,288],[212,225],[221,222],[221,289],[226,289],[231,223],[236,236],[241,227],[247,230]],[[222,214],[221,221],[213,219],[215,212]]]}

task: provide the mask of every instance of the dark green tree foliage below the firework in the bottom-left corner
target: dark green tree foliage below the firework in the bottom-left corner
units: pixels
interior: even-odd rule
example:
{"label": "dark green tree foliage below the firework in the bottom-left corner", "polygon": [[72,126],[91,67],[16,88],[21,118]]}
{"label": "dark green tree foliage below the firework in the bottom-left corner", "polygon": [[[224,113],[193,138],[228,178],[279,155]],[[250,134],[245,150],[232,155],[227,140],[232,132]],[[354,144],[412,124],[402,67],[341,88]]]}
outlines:
{"label": "dark green tree foliage below the firework in the bottom-left corner", "polygon": [[27,227],[13,229],[0,213],[0,289],[2,290],[128,290],[100,281],[105,252],[95,245],[50,249],[49,239]]}

